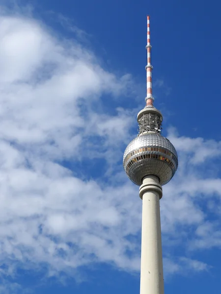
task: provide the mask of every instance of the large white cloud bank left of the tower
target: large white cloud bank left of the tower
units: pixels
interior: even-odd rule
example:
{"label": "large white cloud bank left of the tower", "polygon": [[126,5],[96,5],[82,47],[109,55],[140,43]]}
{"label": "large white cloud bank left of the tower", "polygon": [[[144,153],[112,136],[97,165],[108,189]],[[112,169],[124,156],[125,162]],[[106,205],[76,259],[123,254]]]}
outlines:
{"label": "large white cloud bank left of the tower", "polygon": [[0,17],[0,44],[2,264],[48,263],[58,273],[96,260],[122,268],[131,262],[138,269],[137,253],[125,255],[135,247],[125,237],[137,232],[139,221],[131,230],[124,220],[134,214],[132,207],[139,208],[132,200],[122,207],[125,196],[120,197],[122,189],[127,197],[133,194],[132,185],[103,187],[58,164],[85,156],[108,160],[107,150],[120,159],[129,112],[104,114],[99,97],[123,94],[130,76],[105,71],[76,40],[58,40],[22,16]]}

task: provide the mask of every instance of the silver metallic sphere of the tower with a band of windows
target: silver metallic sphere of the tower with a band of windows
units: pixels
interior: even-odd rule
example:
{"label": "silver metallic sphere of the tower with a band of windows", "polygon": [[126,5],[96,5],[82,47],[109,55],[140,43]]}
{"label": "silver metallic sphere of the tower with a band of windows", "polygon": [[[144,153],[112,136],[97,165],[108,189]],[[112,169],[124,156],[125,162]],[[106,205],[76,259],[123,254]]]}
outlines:
{"label": "silver metallic sphere of the tower with a band of windows", "polygon": [[168,139],[159,134],[139,135],[127,146],[124,170],[132,182],[140,186],[146,175],[156,175],[165,185],[178,168],[177,153]]}

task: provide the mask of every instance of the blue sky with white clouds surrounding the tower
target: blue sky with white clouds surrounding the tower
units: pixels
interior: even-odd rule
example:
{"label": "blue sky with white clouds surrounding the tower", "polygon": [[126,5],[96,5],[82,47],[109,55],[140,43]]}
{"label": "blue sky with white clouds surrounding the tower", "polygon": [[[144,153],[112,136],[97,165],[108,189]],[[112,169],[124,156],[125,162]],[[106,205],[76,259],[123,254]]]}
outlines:
{"label": "blue sky with white clouds surrounding the tower", "polygon": [[141,200],[122,168],[153,96],[165,293],[221,282],[218,1],[0,0],[0,294],[139,293]]}

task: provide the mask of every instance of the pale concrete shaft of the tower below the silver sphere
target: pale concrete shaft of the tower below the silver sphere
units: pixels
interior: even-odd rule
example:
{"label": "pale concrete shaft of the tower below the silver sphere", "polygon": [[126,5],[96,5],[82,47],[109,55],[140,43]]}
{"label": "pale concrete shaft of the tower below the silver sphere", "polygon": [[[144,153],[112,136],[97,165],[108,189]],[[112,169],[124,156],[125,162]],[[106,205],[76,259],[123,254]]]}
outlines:
{"label": "pale concrete shaft of the tower below the silver sphere", "polygon": [[142,199],[140,294],[164,294],[160,220],[162,186],[154,175],[144,177],[142,182],[139,189]]}

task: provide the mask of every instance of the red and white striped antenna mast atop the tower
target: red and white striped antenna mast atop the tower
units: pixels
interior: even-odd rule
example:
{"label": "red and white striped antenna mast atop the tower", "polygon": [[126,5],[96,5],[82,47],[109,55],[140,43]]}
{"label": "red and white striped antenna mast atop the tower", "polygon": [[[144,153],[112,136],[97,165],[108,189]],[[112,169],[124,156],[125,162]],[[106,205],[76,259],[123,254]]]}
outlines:
{"label": "red and white striped antenna mast atop the tower", "polygon": [[146,107],[153,107],[152,95],[152,65],[151,65],[151,45],[150,45],[150,17],[147,16],[147,65],[146,65]]}

